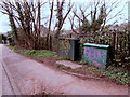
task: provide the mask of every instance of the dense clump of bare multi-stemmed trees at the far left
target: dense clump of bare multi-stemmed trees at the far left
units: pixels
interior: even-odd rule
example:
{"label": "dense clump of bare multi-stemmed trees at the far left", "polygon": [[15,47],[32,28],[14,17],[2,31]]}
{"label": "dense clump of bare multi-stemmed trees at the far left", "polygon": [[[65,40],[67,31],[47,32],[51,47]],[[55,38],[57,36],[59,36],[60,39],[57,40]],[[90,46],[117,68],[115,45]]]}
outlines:
{"label": "dense clump of bare multi-stemmed trees at the far left", "polygon": [[[11,28],[16,38],[17,33],[23,34],[25,41],[20,40],[28,48],[40,48],[40,25],[41,25],[41,6],[44,4],[39,0],[34,1],[2,1],[0,3],[1,12],[9,15]],[[16,25],[18,25],[16,27]],[[20,33],[20,28],[22,31]],[[21,38],[22,39],[22,38]]]}

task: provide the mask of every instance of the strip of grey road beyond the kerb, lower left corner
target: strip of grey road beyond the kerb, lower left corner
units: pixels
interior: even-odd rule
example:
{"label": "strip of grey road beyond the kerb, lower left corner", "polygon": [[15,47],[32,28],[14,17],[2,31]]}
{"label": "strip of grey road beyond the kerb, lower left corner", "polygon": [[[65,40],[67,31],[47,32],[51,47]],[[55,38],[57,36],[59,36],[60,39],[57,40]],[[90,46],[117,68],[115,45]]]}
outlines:
{"label": "strip of grey road beyond the kerb, lower left corner", "polygon": [[[3,45],[0,45],[3,46]],[[10,69],[3,61],[3,47],[0,47],[0,84],[1,84],[1,96],[6,95],[21,95],[20,89],[10,72]]]}

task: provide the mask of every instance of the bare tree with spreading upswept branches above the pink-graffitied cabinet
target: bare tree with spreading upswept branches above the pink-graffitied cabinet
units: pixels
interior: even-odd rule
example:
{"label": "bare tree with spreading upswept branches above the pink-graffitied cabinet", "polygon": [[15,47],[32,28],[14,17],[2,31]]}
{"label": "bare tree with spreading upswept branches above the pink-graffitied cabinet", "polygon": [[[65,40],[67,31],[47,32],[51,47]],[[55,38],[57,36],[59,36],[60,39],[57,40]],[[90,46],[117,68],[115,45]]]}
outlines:
{"label": "bare tree with spreading upswept branches above the pink-graffitied cabinet", "polygon": [[[86,5],[77,8],[78,11],[74,10],[73,15],[69,16],[72,30],[76,33],[103,31],[107,22],[121,15],[120,13],[123,10],[122,8],[120,11],[114,14],[113,11],[119,5],[120,2],[115,1],[108,4],[107,3],[108,2],[105,2],[105,0],[104,1],[94,0],[88,5],[88,6],[91,6],[91,10],[87,9]],[[114,16],[109,17],[110,13],[113,13]],[[88,18],[91,18],[91,19],[88,19]],[[77,24],[76,19],[78,19],[78,25],[76,25]],[[77,30],[77,28],[79,30]]]}

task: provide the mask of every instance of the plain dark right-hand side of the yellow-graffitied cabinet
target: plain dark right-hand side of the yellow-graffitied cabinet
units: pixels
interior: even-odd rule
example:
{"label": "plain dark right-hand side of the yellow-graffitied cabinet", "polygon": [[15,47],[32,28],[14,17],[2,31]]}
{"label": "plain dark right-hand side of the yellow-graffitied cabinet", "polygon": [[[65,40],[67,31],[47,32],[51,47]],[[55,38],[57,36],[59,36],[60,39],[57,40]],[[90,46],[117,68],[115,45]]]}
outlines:
{"label": "plain dark right-hand side of the yellow-graffitied cabinet", "polygon": [[78,60],[79,59],[79,39],[69,39],[70,50],[69,50],[69,58],[70,60]]}

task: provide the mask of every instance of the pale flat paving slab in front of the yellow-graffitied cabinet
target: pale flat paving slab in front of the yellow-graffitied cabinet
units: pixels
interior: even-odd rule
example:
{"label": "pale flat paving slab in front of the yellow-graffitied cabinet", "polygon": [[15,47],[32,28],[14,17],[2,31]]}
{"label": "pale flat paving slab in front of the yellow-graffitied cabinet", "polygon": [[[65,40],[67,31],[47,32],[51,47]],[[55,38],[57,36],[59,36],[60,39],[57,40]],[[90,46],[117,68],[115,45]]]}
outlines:
{"label": "pale flat paving slab in front of the yellow-graffitied cabinet", "polygon": [[77,68],[82,67],[81,65],[78,65],[78,64],[75,64],[75,63],[68,61],[68,60],[58,60],[58,61],[56,61],[56,64],[61,64],[66,67],[70,67],[72,69],[77,69]]}

